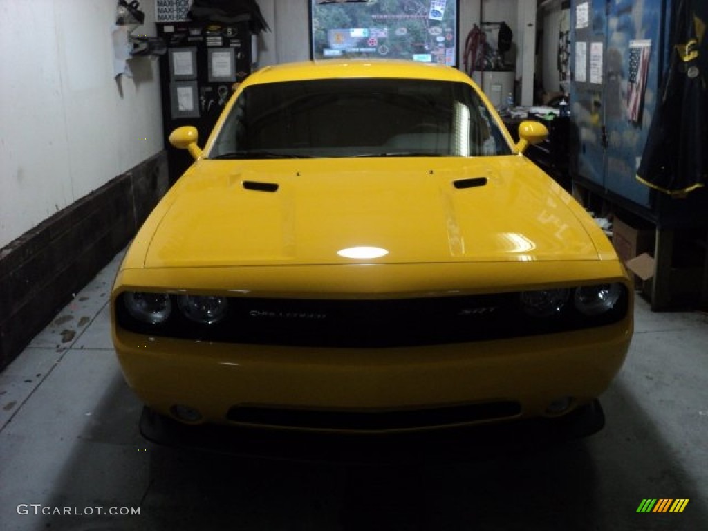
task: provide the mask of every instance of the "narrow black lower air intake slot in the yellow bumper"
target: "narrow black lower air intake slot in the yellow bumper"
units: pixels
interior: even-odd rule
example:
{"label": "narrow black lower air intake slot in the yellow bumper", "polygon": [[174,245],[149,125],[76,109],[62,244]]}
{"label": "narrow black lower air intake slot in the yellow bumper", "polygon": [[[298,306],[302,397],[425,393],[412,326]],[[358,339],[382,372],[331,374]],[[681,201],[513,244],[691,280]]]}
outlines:
{"label": "narrow black lower air intake slot in the yellow bumper", "polygon": [[512,401],[466,404],[435,409],[373,412],[236,406],[229,410],[227,419],[232,422],[257,426],[278,426],[280,428],[377,431],[454,426],[513,418],[520,413],[521,406]]}

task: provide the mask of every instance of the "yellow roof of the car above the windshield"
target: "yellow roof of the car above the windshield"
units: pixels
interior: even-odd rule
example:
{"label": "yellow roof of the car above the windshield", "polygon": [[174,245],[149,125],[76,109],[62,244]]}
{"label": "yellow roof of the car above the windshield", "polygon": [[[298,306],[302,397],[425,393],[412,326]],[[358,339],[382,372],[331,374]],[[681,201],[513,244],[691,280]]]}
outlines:
{"label": "yellow roof of the car above the windshield", "polygon": [[442,64],[399,59],[322,59],[277,64],[251,74],[244,84],[276,83],[303,79],[348,78],[437,79],[462,81],[469,77],[459,70]]}

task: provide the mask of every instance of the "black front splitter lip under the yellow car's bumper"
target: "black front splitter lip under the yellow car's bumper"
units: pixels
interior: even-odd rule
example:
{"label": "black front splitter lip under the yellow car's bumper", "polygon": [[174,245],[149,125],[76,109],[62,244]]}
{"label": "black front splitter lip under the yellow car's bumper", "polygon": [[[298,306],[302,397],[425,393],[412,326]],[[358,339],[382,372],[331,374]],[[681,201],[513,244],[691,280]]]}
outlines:
{"label": "black front splitter lip under the yellow car's bumper", "polygon": [[346,464],[466,462],[542,450],[587,437],[605,426],[595,400],[560,418],[440,428],[406,433],[327,433],[241,426],[189,426],[145,407],[140,433],[159,445],[241,457]]}

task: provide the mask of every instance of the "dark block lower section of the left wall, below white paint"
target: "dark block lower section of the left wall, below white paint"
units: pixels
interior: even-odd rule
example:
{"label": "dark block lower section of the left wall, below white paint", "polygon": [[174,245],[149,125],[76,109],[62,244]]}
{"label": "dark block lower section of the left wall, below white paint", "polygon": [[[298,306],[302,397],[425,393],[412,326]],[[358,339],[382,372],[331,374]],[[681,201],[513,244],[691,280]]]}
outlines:
{"label": "dark block lower section of the left wall, below white paint", "polygon": [[0,370],[127,245],[168,183],[160,152],[0,249]]}

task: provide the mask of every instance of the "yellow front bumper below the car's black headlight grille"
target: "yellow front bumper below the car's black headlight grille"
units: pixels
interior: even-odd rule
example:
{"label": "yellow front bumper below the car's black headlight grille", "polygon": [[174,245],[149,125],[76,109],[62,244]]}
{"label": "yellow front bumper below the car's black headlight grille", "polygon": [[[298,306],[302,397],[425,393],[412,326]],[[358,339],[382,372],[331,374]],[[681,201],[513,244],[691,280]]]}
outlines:
{"label": "yellow front bumper below the car's black headlight grille", "polygon": [[[605,391],[631,335],[626,319],[548,336],[411,348],[209,343],[121,329],[114,343],[127,382],[163,416],[186,406],[198,411],[195,423],[389,433],[569,413]],[[569,408],[549,411],[566,398]]]}

